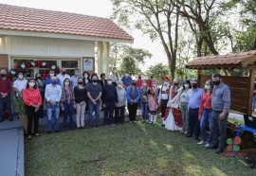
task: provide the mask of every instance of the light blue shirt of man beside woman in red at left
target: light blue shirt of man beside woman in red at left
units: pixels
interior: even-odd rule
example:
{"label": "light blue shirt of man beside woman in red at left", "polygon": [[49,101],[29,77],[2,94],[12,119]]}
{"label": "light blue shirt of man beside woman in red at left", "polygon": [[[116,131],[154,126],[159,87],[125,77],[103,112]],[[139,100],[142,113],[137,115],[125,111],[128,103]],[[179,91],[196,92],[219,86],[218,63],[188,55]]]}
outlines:
{"label": "light blue shirt of man beside woman in red at left", "polygon": [[62,87],[58,84],[46,85],[45,97],[47,102],[49,102],[50,100],[60,102],[62,97]]}

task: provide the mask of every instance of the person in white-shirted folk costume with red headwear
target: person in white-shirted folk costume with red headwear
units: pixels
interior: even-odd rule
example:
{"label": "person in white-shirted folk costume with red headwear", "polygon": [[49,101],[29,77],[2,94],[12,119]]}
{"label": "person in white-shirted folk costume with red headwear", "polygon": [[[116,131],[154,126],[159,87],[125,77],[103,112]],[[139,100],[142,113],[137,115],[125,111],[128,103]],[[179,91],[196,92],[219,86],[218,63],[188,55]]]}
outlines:
{"label": "person in white-shirted folk costume with red headwear", "polygon": [[165,126],[164,116],[167,108],[167,103],[169,100],[169,91],[170,91],[169,81],[170,81],[170,78],[168,76],[165,76],[163,78],[163,85],[160,89],[159,96],[158,96],[158,104],[161,108],[162,127]]}

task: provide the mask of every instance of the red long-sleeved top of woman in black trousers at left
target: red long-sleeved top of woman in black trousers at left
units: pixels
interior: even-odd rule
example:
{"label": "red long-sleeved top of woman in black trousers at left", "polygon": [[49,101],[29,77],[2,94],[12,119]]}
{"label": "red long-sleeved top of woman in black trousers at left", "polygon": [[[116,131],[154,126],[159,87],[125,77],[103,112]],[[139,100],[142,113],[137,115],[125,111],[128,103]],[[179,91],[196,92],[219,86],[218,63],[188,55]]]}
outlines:
{"label": "red long-sleeved top of woman in black trousers at left", "polygon": [[42,105],[42,97],[39,89],[24,89],[23,100],[27,106],[31,106],[31,104]]}

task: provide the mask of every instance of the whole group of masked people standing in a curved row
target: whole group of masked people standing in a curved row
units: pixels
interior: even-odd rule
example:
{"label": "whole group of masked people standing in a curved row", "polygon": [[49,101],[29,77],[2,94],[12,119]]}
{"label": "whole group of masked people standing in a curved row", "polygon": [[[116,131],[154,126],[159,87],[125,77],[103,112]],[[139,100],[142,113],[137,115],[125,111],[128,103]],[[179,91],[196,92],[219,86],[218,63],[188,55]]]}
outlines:
{"label": "whole group of masked people standing in a curved row", "polygon": [[[226,122],[229,115],[230,91],[228,85],[222,82],[220,74],[212,75],[205,82],[204,89],[199,88],[196,79],[185,80],[180,85],[179,79],[173,82],[169,77],[163,78],[159,86],[154,76],[150,79],[132,79],[128,73],[120,79],[117,68],[110,77],[101,74],[90,75],[75,69],[70,77],[63,67],[61,73],[55,75],[50,70],[46,78],[40,73],[34,79],[25,79],[23,72],[18,73],[18,79],[13,86],[7,78],[7,71],[1,70],[0,81],[0,117],[3,117],[4,103],[7,105],[9,120],[12,120],[10,91],[14,90],[17,98],[23,98],[27,105],[27,135],[31,139],[31,126],[34,121],[34,134],[39,136],[39,117],[44,115],[43,104],[46,100],[47,133],[59,130],[59,116],[63,114],[63,132],[74,131],[73,113],[76,111],[76,127],[84,128],[84,114],[89,116],[89,126],[100,127],[100,113],[104,111],[104,126],[115,126],[124,122],[125,106],[127,104],[129,119],[137,121],[137,108],[141,108],[142,121],[156,123],[157,114],[161,114],[162,127],[169,131],[181,131],[186,137],[202,141],[209,149],[224,151],[226,143]],[[21,96],[22,95],[22,96]],[[115,112],[115,114],[114,114]],[[93,114],[96,118],[94,120]],[[67,119],[69,117],[69,119]],[[0,122],[3,118],[0,118]],[[210,125],[210,135],[207,137],[206,126]],[[220,136],[220,141],[218,141]]]}

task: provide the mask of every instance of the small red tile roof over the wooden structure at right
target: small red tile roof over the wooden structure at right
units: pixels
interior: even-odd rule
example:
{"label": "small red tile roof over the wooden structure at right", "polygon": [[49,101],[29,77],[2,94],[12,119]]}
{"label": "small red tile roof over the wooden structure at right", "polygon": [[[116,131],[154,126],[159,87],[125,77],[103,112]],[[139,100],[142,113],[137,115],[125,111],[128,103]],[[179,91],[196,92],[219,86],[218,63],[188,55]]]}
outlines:
{"label": "small red tile roof over the wooden structure at right", "polygon": [[195,58],[192,62],[186,63],[186,68],[190,69],[210,69],[225,67],[247,67],[247,65],[256,62],[256,50],[243,53],[234,53],[226,55],[215,55]]}

